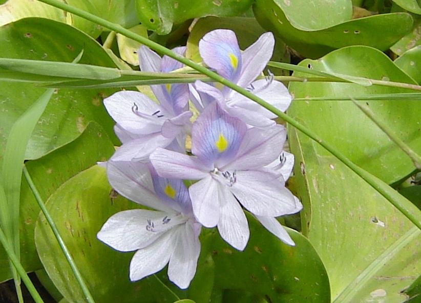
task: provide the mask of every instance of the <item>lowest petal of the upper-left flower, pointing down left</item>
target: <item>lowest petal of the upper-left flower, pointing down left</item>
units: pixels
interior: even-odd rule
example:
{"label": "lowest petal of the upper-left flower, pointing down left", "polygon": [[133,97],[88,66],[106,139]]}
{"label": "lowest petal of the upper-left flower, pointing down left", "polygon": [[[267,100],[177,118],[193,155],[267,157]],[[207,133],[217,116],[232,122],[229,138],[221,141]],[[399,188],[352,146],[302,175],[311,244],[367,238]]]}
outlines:
{"label": "lowest petal of the upper-left flower, pointing down left", "polygon": [[160,132],[139,136],[121,145],[111,157],[113,161],[148,162],[150,154],[158,147],[166,147],[174,138],[164,137]]}

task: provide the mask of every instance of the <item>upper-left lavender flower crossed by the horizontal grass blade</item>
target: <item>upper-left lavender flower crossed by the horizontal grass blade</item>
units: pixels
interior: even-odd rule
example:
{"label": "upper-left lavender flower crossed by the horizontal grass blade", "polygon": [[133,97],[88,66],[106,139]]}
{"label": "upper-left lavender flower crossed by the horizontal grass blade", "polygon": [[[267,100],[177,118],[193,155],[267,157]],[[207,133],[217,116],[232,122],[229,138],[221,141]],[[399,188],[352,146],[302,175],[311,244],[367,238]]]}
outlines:
{"label": "upper-left lavender flower crossed by the horizontal grass blade", "polygon": [[[184,47],[173,49],[182,55]],[[182,65],[178,61],[141,46],[139,62],[142,71],[171,72]],[[157,147],[184,150],[185,133],[190,131],[188,86],[167,84],[151,86],[159,104],[138,91],[118,91],[104,100],[108,112],[117,122],[114,130],[123,145],[112,160],[147,160]]]}

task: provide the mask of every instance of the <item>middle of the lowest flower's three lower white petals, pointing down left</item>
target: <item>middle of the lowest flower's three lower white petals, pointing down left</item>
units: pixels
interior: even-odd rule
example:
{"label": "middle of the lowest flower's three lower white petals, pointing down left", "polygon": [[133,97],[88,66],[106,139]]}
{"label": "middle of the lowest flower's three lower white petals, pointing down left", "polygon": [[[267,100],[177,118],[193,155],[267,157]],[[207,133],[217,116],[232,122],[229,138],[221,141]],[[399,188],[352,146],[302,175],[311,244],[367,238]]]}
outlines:
{"label": "middle of the lowest flower's three lower white petals, pointing down left", "polygon": [[170,261],[177,241],[176,230],[165,232],[154,243],[139,249],[130,262],[130,279],[137,281],[160,271]]}

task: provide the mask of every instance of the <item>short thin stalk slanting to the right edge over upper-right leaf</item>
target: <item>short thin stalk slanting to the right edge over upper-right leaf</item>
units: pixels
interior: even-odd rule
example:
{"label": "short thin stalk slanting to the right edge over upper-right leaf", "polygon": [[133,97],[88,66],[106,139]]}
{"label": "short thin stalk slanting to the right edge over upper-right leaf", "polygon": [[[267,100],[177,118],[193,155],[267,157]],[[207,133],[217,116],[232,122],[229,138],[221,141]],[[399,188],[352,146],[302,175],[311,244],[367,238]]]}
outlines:
{"label": "short thin stalk slanting to the right edge over upper-right leaf", "polygon": [[398,135],[396,135],[393,130],[382,120],[376,118],[374,112],[366,105],[361,104],[355,100],[352,102],[361,109],[362,112],[368,116],[381,130],[387,134],[387,136],[394,142],[396,145],[401,148],[412,160],[416,169],[421,169],[421,156],[414,152]]}

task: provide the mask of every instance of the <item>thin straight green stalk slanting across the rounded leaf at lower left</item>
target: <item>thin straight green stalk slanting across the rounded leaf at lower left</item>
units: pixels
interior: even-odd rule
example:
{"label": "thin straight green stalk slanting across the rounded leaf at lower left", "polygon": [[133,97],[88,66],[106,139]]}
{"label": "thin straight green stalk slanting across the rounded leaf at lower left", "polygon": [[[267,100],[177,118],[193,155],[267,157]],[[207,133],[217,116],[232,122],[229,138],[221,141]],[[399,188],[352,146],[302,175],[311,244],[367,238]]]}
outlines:
{"label": "thin straight green stalk slanting across the rounded leaf at lower left", "polygon": [[91,292],[89,291],[88,286],[85,283],[85,280],[83,279],[82,275],[79,272],[79,269],[77,268],[75,262],[73,261],[73,258],[70,255],[70,252],[67,249],[65,242],[61,238],[60,233],[58,232],[57,226],[55,225],[53,218],[51,218],[50,214],[48,213],[47,208],[45,207],[43,198],[41,198],[41,196],[39,195],[39,192],[36,189],[35,184],[32,181],[32,178],[25,165],[24,165],[24,175],[25,175],[26,180],[28,181],[29,187],[31,188],[32,193],[34,194],[36,201],[38,202],[39,207],[41,208],[41,211],[46,217],[47,222],[50,225],[51,230],[53,231],[53,234],[55,238],[57,239],[57,242],[60,245],[60,248],[67,259],[67,262],[69,262],[69,265],[72,268],[73,274],[75,275],[77,282],[79,283],[80,288],[82,289],[83,294],[85,294],[85,297],[89,303],[95,303],[91,295]]}

